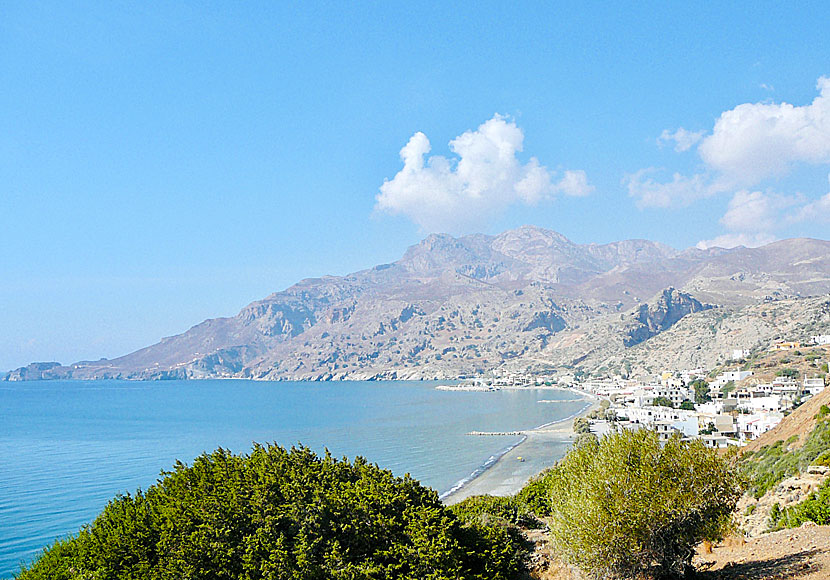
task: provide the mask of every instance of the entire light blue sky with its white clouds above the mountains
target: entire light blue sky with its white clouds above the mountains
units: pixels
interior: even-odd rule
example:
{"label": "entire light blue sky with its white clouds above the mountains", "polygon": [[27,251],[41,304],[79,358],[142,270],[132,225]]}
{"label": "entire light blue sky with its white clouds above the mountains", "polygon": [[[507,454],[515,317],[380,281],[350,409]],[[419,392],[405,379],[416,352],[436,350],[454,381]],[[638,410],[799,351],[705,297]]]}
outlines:
{"label": "entire light blue sky with its white clouds above the mountains", "polygon": [[827,239],[830,6],[636,4],[0,1],[0,369],[431,232]]}

